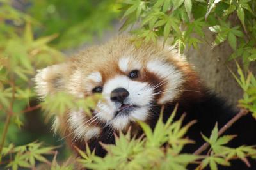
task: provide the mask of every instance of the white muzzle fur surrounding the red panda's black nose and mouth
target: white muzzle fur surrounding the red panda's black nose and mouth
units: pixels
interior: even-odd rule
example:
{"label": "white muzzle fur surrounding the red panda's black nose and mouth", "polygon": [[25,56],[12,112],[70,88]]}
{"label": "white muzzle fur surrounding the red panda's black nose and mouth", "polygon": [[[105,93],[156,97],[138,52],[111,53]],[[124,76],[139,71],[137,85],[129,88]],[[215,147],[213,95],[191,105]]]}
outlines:
{"label": "white muzzle fur surrounding the red panda's black nose and mouth", "polygon": [[[110,100],[110,94],[116,88],[125,88],[129,92],[124,104],[138,107],[133,108],[129,114],[115,117],[116,111],[122,105]],[[153,88],[147,82],[132,81],[125,75],[116,76],[104,85],[102,92],[104,102],[99,102],[97,105],[96,116],[118,130],[127,127],[130,121],[144,121],[148,116],[148,106],[153,99],[153,93]]]}

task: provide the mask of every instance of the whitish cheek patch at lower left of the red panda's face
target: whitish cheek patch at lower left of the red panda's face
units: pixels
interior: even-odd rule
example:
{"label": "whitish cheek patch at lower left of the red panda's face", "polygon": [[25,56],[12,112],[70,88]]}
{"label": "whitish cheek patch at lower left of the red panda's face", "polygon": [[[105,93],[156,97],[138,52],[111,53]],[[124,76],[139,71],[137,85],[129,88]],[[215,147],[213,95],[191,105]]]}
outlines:
{"label": "whitish cheek patch at lower left of the red panda's face", "polygon": [[100,128],[89,127],[93,120],[88,120],[82,110],[69,113],[68,123],[77,139],[88,140],[100,134]]}

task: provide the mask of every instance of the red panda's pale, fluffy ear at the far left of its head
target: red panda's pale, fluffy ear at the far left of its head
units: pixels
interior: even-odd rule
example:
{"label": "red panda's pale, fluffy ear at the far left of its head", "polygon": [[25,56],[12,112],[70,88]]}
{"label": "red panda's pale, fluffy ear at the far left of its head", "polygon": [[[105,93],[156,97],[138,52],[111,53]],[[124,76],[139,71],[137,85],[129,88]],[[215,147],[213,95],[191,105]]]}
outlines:
{"label": "red panda's pale, fluffy ear at the far left of its head", "polygon": [[65,72],[67,72],[67,64],[59,64],[48,66],[42,70],[37,70],[34,78],[35,91],[38,96],[44,98],[46,95],[63,91],[65,89]]}

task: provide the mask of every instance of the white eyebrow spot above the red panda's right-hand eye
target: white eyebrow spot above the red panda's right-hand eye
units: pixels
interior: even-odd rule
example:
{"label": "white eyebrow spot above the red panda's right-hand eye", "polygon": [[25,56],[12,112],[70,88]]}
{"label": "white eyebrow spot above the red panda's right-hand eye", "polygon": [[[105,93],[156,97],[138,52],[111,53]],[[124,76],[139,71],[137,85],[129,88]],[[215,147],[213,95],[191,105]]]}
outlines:
{"label": "white eyebrow spot above the red panda's right-hand eye", "polygon": [[118,66],[122,72],[140,70],[142,65],[132,57],[124,57],[119,60]]}

